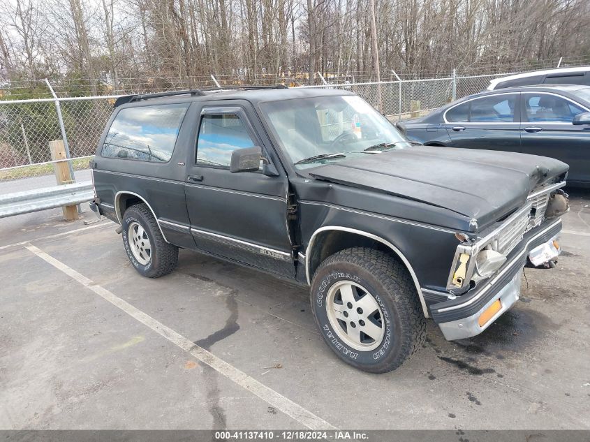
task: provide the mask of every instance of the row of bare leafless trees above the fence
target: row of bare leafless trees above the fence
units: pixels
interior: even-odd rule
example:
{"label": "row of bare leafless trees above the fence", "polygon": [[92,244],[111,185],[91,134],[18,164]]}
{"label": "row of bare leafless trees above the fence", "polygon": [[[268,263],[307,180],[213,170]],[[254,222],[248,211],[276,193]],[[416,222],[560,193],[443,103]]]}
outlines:
{"label": "row of bare leafless trees above the fence", "polygon": [[0,25],[8,80],[89,79],[89,92],[590,57],[588,0],[0,0]]}

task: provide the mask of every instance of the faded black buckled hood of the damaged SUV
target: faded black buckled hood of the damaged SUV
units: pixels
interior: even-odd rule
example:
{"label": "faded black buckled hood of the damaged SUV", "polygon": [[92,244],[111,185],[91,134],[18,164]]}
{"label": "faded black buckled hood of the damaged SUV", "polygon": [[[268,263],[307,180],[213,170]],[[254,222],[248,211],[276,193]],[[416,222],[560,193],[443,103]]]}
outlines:
{"label": "faded black buckled hood of the damaged SUV", "polygon": [[476,219],[481,228],[568,168],[545,156],[424,146],[342,160],[309,175],[443,207]]}

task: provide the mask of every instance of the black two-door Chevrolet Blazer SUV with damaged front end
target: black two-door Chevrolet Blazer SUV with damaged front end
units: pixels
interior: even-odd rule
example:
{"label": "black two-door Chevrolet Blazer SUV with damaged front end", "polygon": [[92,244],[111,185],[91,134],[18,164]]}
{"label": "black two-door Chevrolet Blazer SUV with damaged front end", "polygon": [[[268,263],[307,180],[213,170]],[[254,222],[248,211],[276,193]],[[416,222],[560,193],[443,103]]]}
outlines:
{"label": "black two-door Chevrolet Blazer SUV with damaged front end", "polygon": [[559,254],[568,210],[565,163],[415,145],[334,89],[121,97],[92,172],[140,274],[183,248],[309,286],[327,345],[375,373],[420,348],[426,318],[446,339],[485,330],[527,256]]}

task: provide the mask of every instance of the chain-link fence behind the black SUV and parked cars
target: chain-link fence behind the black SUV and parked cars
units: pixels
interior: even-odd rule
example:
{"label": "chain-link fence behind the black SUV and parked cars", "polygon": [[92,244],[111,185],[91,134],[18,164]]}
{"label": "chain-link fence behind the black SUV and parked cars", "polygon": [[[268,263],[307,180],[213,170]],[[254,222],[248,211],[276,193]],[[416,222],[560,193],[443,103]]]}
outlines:
{"label": "chain-link fence behind the black SUV and parked cars", "polygon": [[[456,98],[475,94],[485,89],[489,80],[499,76],[453,75],[309,87],[352,91],[381,109],[392,121],[397,121],[408,118],[410,112],[423,115]],[[0,181],[50,175],[53,171],[48,147],[51,140],[64,140],[73,170],[88,168],[115,98],[117,96],[0,100]]]}

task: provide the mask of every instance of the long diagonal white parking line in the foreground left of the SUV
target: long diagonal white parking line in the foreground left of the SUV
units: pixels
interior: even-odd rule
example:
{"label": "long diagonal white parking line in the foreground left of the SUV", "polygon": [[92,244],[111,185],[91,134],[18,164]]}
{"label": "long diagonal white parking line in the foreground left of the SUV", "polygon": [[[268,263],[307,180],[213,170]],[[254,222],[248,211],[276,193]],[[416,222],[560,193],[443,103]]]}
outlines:
{"label": "long diagonal white parking line in the foreground left of the SUV", "polygon": [[278,408],[280,411],[290,416],[290,418],[293,418],[297,422],[300,422],[300,424],[304,425],[305,427],[312,430],[337,429],[334,427],[334,425],[331,425],[322,418],[316,416],[314,413],[311,413],[311,411],[307,410],[307,408],[303,408],[299,404],[295,404],[295,402],[292,400],[284,397],[279,392],[272,390],[272,388],[267,387],[263,383],[256,381],[256,379],[233,367],[233,365],[228,364],[228,362],[218,358],[213,353],[205,350],[205,348],[194,344],[190,339],[185,338],[181,334],[178,334],[172,330],[170,327],[166,327],[162,323],[156,321],[156,319],[152,318],[152,316],[149,316],[140,309],[133,307],[133,305],[129,304],[125,300],[122,300],[117,295],[114,295],[106,288],[103,288],[102,286],[94,283],[94,281],[91,279],[84,277],[84,275],[76,272],[71,267],[61,263],[61,261],[48,255],[38,247],[32,244],[27,244],[26,247],[29,249],[29,251],[35,253],[39,258],[42,258],[47,263],[50,263],[57,270],[61,270],[61,272],[67,274],[68,277],[75,279],[81,283],[82,286],[89,288],[98,296],[103,297],[103,299],[115,305],[115,307],[119,307],[119,309],[124,311],[135,320],[151,328],[154,330],[154,332],[165,337],[165,339],[168,339],[168,341],[172,342],[172,344],[182,348],[182,350],[190,353],[195,358],[200,360],[200,362],[209,365],[209,367],[212,367],[212,369],[219,371],[219,373],[223,374],[223,376],[226,376],[226,378],[231,379],[237,383],[237,385],[253,393],[253,395],[260,397],[260,399],[263,399],[263,401],[274,406],[275,408]]}

